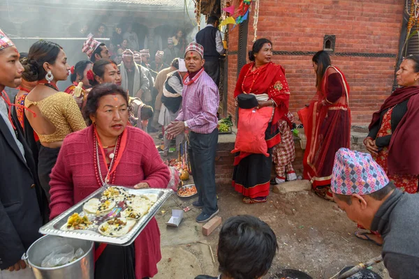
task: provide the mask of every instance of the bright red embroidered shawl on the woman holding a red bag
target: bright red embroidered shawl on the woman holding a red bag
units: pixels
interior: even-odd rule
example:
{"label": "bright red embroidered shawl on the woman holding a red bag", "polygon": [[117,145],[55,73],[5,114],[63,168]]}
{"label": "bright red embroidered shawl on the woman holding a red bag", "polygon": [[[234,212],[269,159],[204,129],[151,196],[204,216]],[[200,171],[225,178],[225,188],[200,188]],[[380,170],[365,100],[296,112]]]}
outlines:
{"label": "bright red embroidered shawl on the woman holding a red bag", "polygon": [[252,72],[251,69],[254,65],[254,62],[248,63],[240,70],[234,98],[241,93],[256,95],[267,93],[269,98],[277,104],[272,119],[272,125],[274,125],[288,112],[290,90],[286,81],[285,70],[282,66],[270,62]]}

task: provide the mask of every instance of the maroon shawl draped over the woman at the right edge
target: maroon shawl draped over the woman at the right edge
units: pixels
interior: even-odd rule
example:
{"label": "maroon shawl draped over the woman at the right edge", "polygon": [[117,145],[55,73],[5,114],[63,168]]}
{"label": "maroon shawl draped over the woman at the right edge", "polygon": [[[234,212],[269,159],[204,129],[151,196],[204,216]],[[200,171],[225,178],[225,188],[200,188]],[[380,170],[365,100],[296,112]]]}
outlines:
{"label": "maroon shawl draped over the woman at the right edge", "polygon": [[385,100],[381,109],[372,116],[370,128],[378,119],[383,110],[393,107],[410,98],[407,103],[407,112],[404,114],[390,140],[388,153],[389,174],[419,175],[419,86],[409,86],[396,89]]}

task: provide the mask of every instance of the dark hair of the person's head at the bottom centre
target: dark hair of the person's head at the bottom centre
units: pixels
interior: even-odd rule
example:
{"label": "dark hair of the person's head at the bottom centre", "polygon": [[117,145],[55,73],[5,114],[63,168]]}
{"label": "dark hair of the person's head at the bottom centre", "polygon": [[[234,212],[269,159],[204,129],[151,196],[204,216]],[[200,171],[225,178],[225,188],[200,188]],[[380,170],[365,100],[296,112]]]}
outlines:
{"label": "dark hair of the person's head at the bottom centre", "polygon": [[219,271],[234,279],[259,278],[270,269],[277,237],[262,220],[240,215],[229,218],[219,235]]}

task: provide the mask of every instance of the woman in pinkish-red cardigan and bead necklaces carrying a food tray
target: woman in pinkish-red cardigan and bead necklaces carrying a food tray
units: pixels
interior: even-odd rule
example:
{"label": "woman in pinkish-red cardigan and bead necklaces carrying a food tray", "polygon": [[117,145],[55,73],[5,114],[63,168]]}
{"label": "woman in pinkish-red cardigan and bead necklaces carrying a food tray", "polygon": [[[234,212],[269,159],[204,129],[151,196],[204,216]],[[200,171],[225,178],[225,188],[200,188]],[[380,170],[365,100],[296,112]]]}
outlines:
{"label": "woman in pinkish-red cardigan and bead necklaces carrying a food tray", "polygon": [[[152,137],[128,123],[128,97],[116,84],[91,89],[83,114],[89,127],[68,135],[51,173],[51,216],[110,183],[166,188],[169,170]],[[148,278],[161,259],[160,232],[153,218],[130,246],[96,244],[95,278]]]}

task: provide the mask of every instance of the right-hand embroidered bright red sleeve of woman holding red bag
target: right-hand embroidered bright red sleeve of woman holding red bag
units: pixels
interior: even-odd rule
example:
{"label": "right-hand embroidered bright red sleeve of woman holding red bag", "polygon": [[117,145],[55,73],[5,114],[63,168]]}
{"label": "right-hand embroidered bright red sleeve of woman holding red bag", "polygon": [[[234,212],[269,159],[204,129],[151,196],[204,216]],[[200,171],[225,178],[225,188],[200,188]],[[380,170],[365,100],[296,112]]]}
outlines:
{"label": "right-hand embroidered bright red sleeve of woman holding red bag", "polygon": [[274,78],[273,84],[267,89],[269,97],[274,100],[277,105],[276,110],[279,114],[284,115],[288,112],[290,101],[290,89],[285,77],[285,70],[279,66],[277,75]]}

